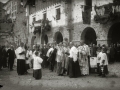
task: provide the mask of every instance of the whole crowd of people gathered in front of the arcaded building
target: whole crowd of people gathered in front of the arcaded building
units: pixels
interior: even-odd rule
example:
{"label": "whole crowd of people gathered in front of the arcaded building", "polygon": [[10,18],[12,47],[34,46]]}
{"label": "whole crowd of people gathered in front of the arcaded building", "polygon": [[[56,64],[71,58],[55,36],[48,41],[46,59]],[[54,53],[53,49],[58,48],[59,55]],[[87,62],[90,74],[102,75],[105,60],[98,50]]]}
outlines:
{"label": "whole crowd of people gathered in front of the arcaded building", "polygon": [[105,45],[85,44],[81,40],[79,45],[73,42],[51,45],[33,45],[32,48],[21,43],[18,48],[0,46],[0,70],[8,67],[13,70],[14,60],[17,59],[17,73],[24,75],[33,69],[35,79],[42,78],[42,68],[49,68],[58,76],[68,75],[70,78],[77,78],[90,74],[90,57],[96,57],[97,73],[105,77],[108,74],[108,62],[120,61],[120,44]]}

